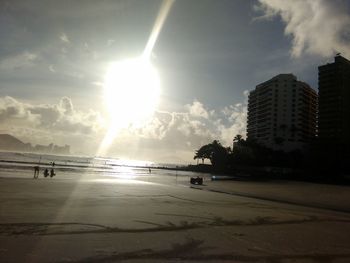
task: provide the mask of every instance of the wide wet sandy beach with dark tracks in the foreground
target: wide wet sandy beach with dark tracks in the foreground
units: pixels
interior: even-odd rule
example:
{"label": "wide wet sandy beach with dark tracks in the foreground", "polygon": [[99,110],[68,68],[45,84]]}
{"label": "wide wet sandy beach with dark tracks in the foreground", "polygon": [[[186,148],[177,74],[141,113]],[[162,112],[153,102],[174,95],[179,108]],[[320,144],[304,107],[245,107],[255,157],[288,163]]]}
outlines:
{"label": "wide wet sandy beach with dark tracks in the foreground", "polygon": [[167,173],[0,178],[0,261],[350,260],[347,187]]}

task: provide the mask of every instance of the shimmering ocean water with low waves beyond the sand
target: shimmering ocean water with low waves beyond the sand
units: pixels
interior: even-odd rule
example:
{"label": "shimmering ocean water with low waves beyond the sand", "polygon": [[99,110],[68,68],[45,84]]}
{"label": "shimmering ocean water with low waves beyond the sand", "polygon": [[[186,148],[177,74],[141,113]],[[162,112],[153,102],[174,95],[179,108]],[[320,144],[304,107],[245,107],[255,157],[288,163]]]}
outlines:
{"label": "shimmering ocean water with low waves beyond the sand", "polygon": [[[54,166],[52,164],[55,163]],[[203,174],[177,170],[176,165],[117,158],[52,155],[38,153],[0,152],[0,177],[33,178],[34,166],[39,166],[39,178],[44,170],[54,168],[60,179],[119,178],[172,176],[192,177]]]}

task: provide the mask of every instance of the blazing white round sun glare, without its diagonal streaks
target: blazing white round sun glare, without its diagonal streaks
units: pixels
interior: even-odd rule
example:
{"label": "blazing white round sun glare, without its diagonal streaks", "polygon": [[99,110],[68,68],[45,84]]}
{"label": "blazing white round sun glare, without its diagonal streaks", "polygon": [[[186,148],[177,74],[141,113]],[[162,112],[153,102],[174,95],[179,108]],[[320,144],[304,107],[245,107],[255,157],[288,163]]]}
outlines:
{"label": "blazing white round sun glare, without its diagonal streaks", "polygon": [[159,76],[148,59],[127,59],[109,66],[104,98],[113,129],[142,125],[154,113],[159,96]]}

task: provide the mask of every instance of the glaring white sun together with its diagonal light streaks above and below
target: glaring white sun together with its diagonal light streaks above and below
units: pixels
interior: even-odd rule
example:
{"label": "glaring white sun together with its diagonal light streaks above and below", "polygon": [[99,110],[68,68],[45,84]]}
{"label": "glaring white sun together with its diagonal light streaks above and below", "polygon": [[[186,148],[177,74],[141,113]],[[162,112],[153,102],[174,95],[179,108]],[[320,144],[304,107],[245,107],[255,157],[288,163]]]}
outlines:
{"label": "glaring white sun together with its diagonal light streaks above and below", "polygon": [[150,57],[175,0],[164,0],[139,58],[111,63],[104,84],[110,127],[97,151],[104,155],[122,128],[143,125],[153,115],[160,97],[160,81]]}

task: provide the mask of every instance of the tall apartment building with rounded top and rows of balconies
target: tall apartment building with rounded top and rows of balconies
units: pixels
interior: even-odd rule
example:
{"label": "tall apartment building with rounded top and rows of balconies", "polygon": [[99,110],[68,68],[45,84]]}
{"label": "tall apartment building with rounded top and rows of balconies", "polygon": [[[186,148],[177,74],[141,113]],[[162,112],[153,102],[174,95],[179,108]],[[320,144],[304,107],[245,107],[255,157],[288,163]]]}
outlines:
{"label": "tall apartment building with rounded top and rows of balconies", "polygon": [[317,93],[292,74],[256,86],[248,98],[247,139],[274,150],[303,149],[316,136]]}

